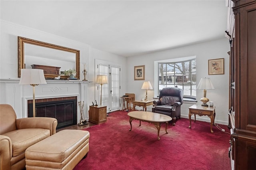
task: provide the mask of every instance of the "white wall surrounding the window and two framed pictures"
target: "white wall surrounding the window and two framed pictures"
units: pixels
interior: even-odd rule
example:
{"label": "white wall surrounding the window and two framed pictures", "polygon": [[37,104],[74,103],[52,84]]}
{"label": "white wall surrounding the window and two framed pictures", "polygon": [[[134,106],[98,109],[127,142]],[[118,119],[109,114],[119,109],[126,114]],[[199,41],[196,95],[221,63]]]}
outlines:
{"label": "white wall surrounding the window and two framed pictures", "polygon": [[[134,66],[145,65],[145,81],[150,81],[153,89],[158,90],[154,85],[154,61],[173,59],[177,57],[196,56],[196,80],[199,83],[202,77],[210,77],[214,84],[214,90],[207,90],[207,97],[210,101],[214,102],[216,106],[216,123],[223,125],[228,124],[228,87],[229,87],[229,55],[230,45],[228,39],[222,38],[213,40],[210,42],[202,42],[193,45],[187,45],[184,47],[177,47],[174,49],[168,49],[158,51],[154,53],[148,53],[144,55],[138,55],[128,58],[127,67],[127,93],[135,93],[136,100],[145,98],[145,90],[141,89],[143,81],[134,81]],[[208,59],[224,58],[224,74],[223,75],[208,75]],[[157,70],[157,69],[156,69]],[[156,87],[156,89],[155,89]],[[154,90],[148,90],[148,98],[154,96]],[[201,104],[200,98],[203,96],[202,90],[196,91],[197,103]],[[184,103],[182,105],[181,115],[184,118],[188,118],[188,107],[191,103]],[[152,107],[148,107],[150,111]],[[193,117],[193,116],[192,116]],[[194,117],[193,117],[194,118]],[[199,117],[198,120],[210,121],[208,117]]]}

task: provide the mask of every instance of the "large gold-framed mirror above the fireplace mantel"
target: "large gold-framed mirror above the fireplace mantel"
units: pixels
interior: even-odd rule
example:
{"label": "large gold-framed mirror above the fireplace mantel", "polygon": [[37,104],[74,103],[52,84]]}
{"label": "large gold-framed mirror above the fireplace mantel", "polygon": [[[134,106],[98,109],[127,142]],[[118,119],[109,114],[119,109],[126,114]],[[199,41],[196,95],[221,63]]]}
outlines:
{"label": "large gold-framed mirror above the fireplace mantel", "polygon": [[[80,50],[40,42],[18,36],[18,77],[21,69],[41,67],[46,79],[69,76],[62,73],[69,69],[76,70],[76,79],[80,79]],[[50,69],[48,69],[50,68]],[[52,69],[58,69],[52,71]]]}

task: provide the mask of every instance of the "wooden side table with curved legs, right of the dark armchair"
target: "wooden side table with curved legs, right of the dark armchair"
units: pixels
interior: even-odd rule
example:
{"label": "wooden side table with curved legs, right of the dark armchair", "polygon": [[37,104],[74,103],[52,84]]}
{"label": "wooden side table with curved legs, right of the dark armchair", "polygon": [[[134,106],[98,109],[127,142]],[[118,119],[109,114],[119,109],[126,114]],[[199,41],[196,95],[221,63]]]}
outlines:
{"label": "wooden side table with curved legs, right of the dark armchair", "polygon": [[191,115],[194,114],[194,116],[195,116],[194,122],[196,121],[196,115],[208,116],[211,119],[211,132],[213,133],[212,125],[214,125],[215,108],[216,108],[215,106],[214,107],[204,107],[204,106],[201,106],[201,105],[192,105],[192,106],[190,106],[188,108],[189,109],[188,117],[189,117],[189,123],[190,123],[189,128],[191,128]]}

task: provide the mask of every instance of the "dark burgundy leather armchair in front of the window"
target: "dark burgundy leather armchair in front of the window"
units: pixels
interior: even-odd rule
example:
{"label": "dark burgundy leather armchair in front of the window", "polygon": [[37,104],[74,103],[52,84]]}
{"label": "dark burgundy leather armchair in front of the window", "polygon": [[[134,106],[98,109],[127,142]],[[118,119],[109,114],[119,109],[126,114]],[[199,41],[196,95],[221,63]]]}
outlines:
{"label": "dark burgundy leather armchair in front of the window", "polygon": [[164,87],[159,91],[159,99],[153,101],[152,112],[172,117],[172,125],[180,119],[180,106],[183,104],[183,89],[177,87]]}

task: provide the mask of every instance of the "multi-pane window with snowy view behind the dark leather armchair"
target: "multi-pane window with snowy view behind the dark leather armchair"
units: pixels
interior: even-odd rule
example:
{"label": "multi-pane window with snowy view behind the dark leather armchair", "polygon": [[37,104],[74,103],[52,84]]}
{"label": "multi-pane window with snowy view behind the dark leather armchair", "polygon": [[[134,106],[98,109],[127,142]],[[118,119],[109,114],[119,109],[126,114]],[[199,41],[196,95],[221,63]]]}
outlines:
{"label": "multi-pane window with snowy view behind the dark leather armchair", "polygon": [[158,91],[164,87],[183,89],[184,97],[196,98],[196,58],[158,62]]}

